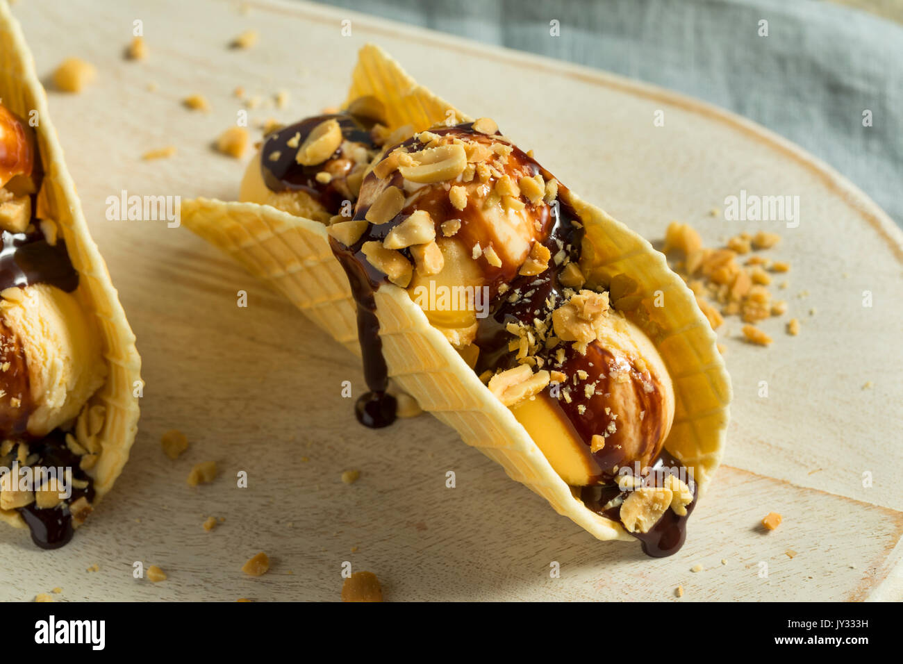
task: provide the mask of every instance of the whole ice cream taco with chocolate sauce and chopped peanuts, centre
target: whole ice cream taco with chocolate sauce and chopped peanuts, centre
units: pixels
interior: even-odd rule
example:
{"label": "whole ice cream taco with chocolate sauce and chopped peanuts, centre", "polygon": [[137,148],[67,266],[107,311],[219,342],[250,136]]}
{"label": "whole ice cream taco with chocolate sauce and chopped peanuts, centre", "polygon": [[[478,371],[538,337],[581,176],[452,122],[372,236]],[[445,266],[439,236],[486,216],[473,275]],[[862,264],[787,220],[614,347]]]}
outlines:
{"label": "whole ice cream taco with chocolate sauce and chopped peanuts, centre", "polygon": [[[391,377],[596,538],[674,553],[731,399],[694,295],[645,239],[377,47],[345,108],[368,109],[371,162],[331,164],[351,136],[342,117],[312,118],[261,146],[242,196],[264,205],[197,201],[183,221],[357,341],[362,423],[395,418]],[[315,182],[336,173],[359,178],[330,205]]]}

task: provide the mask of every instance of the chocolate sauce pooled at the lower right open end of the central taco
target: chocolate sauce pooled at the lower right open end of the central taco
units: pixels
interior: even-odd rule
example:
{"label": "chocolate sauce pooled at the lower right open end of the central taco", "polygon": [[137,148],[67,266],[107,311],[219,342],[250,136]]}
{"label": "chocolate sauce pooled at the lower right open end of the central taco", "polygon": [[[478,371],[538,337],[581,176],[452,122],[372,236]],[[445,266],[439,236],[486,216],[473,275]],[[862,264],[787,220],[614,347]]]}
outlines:
{"label": "chocolate sauce pooled at the lower right open end of the central taco", "polygon": [[[663,486],[667,475],[677,475],[679,469],[683,467],[683,464],[675,456],[667,450],[662,450],[647,476],[647,486]],[[674,510],[665,510],[661,519],[658,519],[656,525],[649,528],[648,532],[629,533],[632,537],[642,542],[643,553],[647,556],[655,558],[672,556],[677,553],[680,547],[684,546],[686,521],[696,507],[699,491],[696,482],[689,482],[686,477],[684,477],[684,482],[693,491],[693,500],[686,506],[686,514],[679,516]],[[617,485],[608,485],[585,486],[581,490],[580,497],[583,504],[590,510],[613,521],[620,521],[620,506],[607,510],[604,508],[610,500],[618,496],[626,499],[628,495],[628,491],[620,491]]]}

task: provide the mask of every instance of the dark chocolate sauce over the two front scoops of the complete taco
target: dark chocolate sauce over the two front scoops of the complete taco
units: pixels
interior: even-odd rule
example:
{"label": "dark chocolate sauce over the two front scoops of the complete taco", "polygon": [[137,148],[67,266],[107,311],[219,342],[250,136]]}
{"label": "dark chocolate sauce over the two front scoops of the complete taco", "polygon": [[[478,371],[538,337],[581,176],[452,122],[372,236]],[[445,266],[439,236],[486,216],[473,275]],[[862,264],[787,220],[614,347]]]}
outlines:
{"label": "dark chocolate sauce over the two front scoops of the complete taco", "polygon": [[[474,136],[478,134],[470,123],[448,128],[433,128],[431,132],[439,136],[452,132]],[[416,138],[408,139],[400,145],[405,147],[408,152],[422,150],[425,147]],[[392,149],[389,148],[386,154]],[[527,174],[541,173],[546,182],[554,177],[516,146],[508,158],[525,169]],[[403,177],[397,171],[392,173],[389,178],[388,185],[403,187]],[[368,173],[367,179],[376,179],[375,173]],[[364,186],[367,186],[366,181]],[[568,193],[567,188],[559,182],[558,197],[554,207],[540,203],[530,205],[529,211],[538,225],[538,238],[542,238],[541,242],[549,249],[549,253],[555,257],[564,252],[571,262],[579,262],[583,228],[579,215],[568,202],[570,201]],[[448,195],[426,200],[421,198],[414,203],[414,206],[417,209],[428,211],[434,220],[461,219],[461,229],[457,235],[463,236],[463,240],[468,246],[473,244],[473,242],[469,243],[470,240],[479,241],[479,236],[468,237],[470,232],[466,219],[468,209],[453,210]],[[354,219],[364,220],[368,209],[368,206],[358,205]],[[367,426],[390,424],[395,419],[395,400],[386,394],[386,360],[383,358],[382,343],[378,336],[379,323],[373,296],[377,288],[386,283],[387,279],[385,274],[368,262],[362,248],[365,242],[381,241],[386,238],[389,231],[405,220],[412,211],[414,210],[405,208],[393,220],[382,224],[368,224],[362,237],[351,247],[345,247],[330,238],[330,246],[342,267],[345,268],[352,295],[358,306],[358,336],[364,373],[370,391],[358,399],[356,412],[358,420]],[[479,233],[477,228],[479,228],[477,224],[474,224],[472,232]],[[401,249],[401,253],[408,260],[414,262],[410,249]],[[474,340],[479,347],[479,356],[474,368],[476,373],[481,374],[487,369],[496,372],[517,365],[515,354],[508,351],[508,343],[511,341],[511,334],[507,331],[508,323],[529,325],[538,318],[545,320],[551,327],[552,313],[565,300],[565,286],[561,284],[559,277],[567,262],[565,260],[552,261],[549,268],[538,276],[519,276],[517,267],[512,269],[504,264],[502,267],[485,267],[484,276],[489,285],[490,305],[489,316],[479,320],[477,336]],[[510,295],[513,293],[516,293],[517,297],[511,298]],[[601,347],[596,348],[592,344],[586,354],[574,351],[573,347],[569,345],[565,349],[563,360],[559,360],[557,354],[551,351],[539,351],[537,355],[543,357],[544,368],[562,369],[568,376],[576,373],[578,369],[584,369],[588,373],[599,375],[601,383],[610,380],[611,369],[631,369],[617,366],[619,360],[612,353]],[[600,372],[602,368],[606,370]],[[635,369],[632,372],[638,373]],[[663,417],[657,386],[653,386],[650,391],[643,389],[638,384],[638,376],[633,376],[631,382],[634,384],[637,402],[645,409],[647,415],[641,425],[641,434],[648,441],[657,441],[660,438]],[[546,388],[546,391],[550,388]],[[610,390],[606,389],[603,384],[600,394],[607,391]],[[582,436],[587,445],[590,444],[591,436],[594,433],[605,431],[610,421],[613,420],[612,415],[605,413],[604,408],[591,407],[592,398],[594,397],[584,398],[575,395],[570,405],[563,404],[557,398],[549,399],[550,405],[557,408],[562,416],[573,423],[577,433]],[[582,413],[578,410],[581,405],[586,406]],[[655,450],[646,450],[645,452],[647,454],[644,460],[652,463],[654,468],[648,475],[647,484],[660,486],[660,482],[663,482],[666,475],[671,473],[667,469],[681,467],[675,457],[664,449],[660,450],[654,458],[652,456]],[[582,487],[581,498],[590,510],[609,519],[620,521],[618,507],[603,508],[610,500],[618,496],[624,498],[627,495],[626,492],[620,491],[615,483],[616,476],[614,474],[619,465],[625,462],[625,452],[621,450],[621,445],[610,444],[593,453],[593,456],[600,468],[606,470],[598,478],[600,484]],[[643,551],[648,556],[670,556],[683,545],[686,519],[696,502],[695,484],[692,485],[692,488],[694,499],[687,505],[686,515],[678,516],[673,510],[666,510],[662,518],[647,533],[633,534],[642,542]]]}

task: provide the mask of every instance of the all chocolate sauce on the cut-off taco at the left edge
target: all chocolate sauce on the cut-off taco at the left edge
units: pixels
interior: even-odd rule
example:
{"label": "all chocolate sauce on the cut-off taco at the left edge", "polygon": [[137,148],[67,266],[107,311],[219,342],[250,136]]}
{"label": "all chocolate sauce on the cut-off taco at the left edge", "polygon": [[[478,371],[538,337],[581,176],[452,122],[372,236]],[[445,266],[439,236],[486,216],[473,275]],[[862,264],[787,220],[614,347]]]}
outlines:
{"label": "all chocolate sauce on the cut-off taco at the left edge", "polygon": [[[21,120],[19,123],[24,130],[25,125]],[[29,140],[32,140],[31,137]],[[40,154],[36,150],[33,159],[30,173],[35,184],[33,189],[40,191],[43,171]],[[32,210],[37,209],[36,199],[37,195],[32,194]],[[0,290],[34,284],[53,285],[67,293],[72,293],[79,287],[79,273],[72,266],[66,243],[62,238],[57,238],[56,244],[51,245],[36,219],[32,220],[27,232],[11,233],[4,230],[0,247]],[[94,482],[80,470],[79,457],[70,452],[64,432],[56,429],[49,435],[36,439],[25,430],[33,411],[33,403],[22,343],[2,322],[0,335],[4,341],[3,360],[10,362],[9,369],[2,375],[4,398],[17,396],[21,399],[17,408],[7,408],[6,404],[0,407],[0,435],[4,439],[27,443],[29,454],[38,454],[37,465],[71,468],[73,478],[88,481],[87,488],[73,489],[70,498],[56,508],[38,509],[34,502],[18,508],[19,514],[32,531],[36,545],[42,548],[62,547],[72,538],[69,505],[82,496],[87,497],[88,501],[93,500]]]}

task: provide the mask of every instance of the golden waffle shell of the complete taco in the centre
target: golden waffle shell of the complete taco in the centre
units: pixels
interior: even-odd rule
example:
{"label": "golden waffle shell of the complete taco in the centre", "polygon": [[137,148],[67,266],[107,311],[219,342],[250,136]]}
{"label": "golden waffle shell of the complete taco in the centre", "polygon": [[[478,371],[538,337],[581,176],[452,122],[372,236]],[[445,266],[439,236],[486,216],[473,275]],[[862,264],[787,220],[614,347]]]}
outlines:
{"label": "golden waffle shell of the complete taco in the centre", "polygon": [[[386,106],[390,129],[415,130],[468,121],[419,86],[377,46],[365,46],[352,74],[348,100],[371,95]],[[591,283],[607,284],[620,273],[651,300],[666,305],[650,314],[656,343],[675,387],[675,421],[666,449],[692,467],[702,493],[721,460],[729,419],[731,383],[715,335],[693,293],[644,238],[602,210],[571,195],[586,229],[581,267]],[[287,295],[338,341],[358,352],[355,305],[325,228],[269,206],[189,201],[183,222],[236,257],[252,274]],[[465,443],[494,459],[517,482],[543,496],[554,509],[599,539],[629,539],[621,525],[587,509],[545,459],[511,411],[494,397],[433,328],[424,312],[396,285],[375,295],[389,376],[420,406],[452,426]],[[326,310],[326,311],[324,311]]]}

